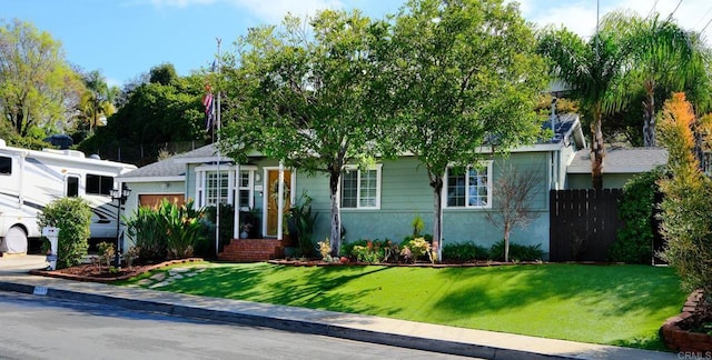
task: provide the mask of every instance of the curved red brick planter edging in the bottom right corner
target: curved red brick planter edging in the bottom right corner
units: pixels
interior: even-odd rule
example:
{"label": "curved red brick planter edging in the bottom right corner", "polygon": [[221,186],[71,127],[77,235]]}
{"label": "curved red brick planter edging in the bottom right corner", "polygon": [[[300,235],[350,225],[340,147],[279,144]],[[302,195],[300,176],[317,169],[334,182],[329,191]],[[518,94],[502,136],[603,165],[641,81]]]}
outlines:
{"label": "curved red brick planter edging in the bottom right corner", "polygon": [[712,351],[712,336],[681,329],[678,323],[690,318],[702,300],[702,290],[696,290],[688,297],[682,312],[672,317],[660,328],[660,333],[669,349],[683,352]]}

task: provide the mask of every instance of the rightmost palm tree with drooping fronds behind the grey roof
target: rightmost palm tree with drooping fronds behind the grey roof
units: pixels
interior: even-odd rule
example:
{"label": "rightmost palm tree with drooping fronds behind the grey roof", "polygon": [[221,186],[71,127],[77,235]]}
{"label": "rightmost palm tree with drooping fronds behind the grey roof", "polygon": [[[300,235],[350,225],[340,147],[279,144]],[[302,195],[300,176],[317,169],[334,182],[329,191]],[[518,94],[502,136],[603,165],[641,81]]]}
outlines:
{"label": "rightmost palm tree with drooping fronds behind the grey roof", "polygon": [[643,143],[656,147],[655,113],[660,108],[655,102],[656,90],[683,91],[700,80],[706,62],[702,41],[672,19],[661,19],[659,14],[641,18],[632,12],[612,12],[603,27],[603,31],[620,37],[621,48],[626,51],[625,71],[610,106],[614,110],[627,106],[631,94],[641,89],[644,93]]}

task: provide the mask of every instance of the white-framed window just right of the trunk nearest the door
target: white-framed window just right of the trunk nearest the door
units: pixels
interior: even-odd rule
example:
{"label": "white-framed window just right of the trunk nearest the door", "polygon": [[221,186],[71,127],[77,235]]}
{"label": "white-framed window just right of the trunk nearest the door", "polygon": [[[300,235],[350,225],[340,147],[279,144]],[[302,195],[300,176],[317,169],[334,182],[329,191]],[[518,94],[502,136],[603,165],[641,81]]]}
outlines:
{"label": "white-framed window just right of the trunk nearest the door", "polygon": [[342,209],[380,209],[380,170],[377,164],[366,170],[347,167],[342,173]]}

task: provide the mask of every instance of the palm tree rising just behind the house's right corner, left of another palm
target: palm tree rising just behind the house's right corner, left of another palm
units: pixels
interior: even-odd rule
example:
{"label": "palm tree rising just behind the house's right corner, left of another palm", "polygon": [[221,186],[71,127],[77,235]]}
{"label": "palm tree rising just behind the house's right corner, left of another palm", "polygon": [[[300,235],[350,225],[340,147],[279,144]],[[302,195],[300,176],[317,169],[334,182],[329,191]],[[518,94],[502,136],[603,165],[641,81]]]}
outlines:
{"label": "palm tree rising just behind the house's right corner, left of another palm", "polygon": [[601,120],[604,111],[611,109],[607,101],[621,77],[625,52],[615,33],[596,31],[584,41],[565,28],[545,29],[540,36],[538,50],[552,60],[551,74],[570,87],[591,117],[591,176],[593,188],[600,190],[605,156]]}

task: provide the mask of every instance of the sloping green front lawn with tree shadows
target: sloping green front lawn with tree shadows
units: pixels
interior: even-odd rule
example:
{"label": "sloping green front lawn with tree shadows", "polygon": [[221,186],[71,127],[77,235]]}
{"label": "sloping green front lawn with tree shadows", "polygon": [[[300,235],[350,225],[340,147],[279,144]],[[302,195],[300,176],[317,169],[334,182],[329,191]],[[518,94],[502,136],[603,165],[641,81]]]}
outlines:
{"label": "sloping green front lawn with tree shadows", "polygon": [[328,309],[592,343],[664,349],[686,294],[673,269],[212,264],[166,291]]}

